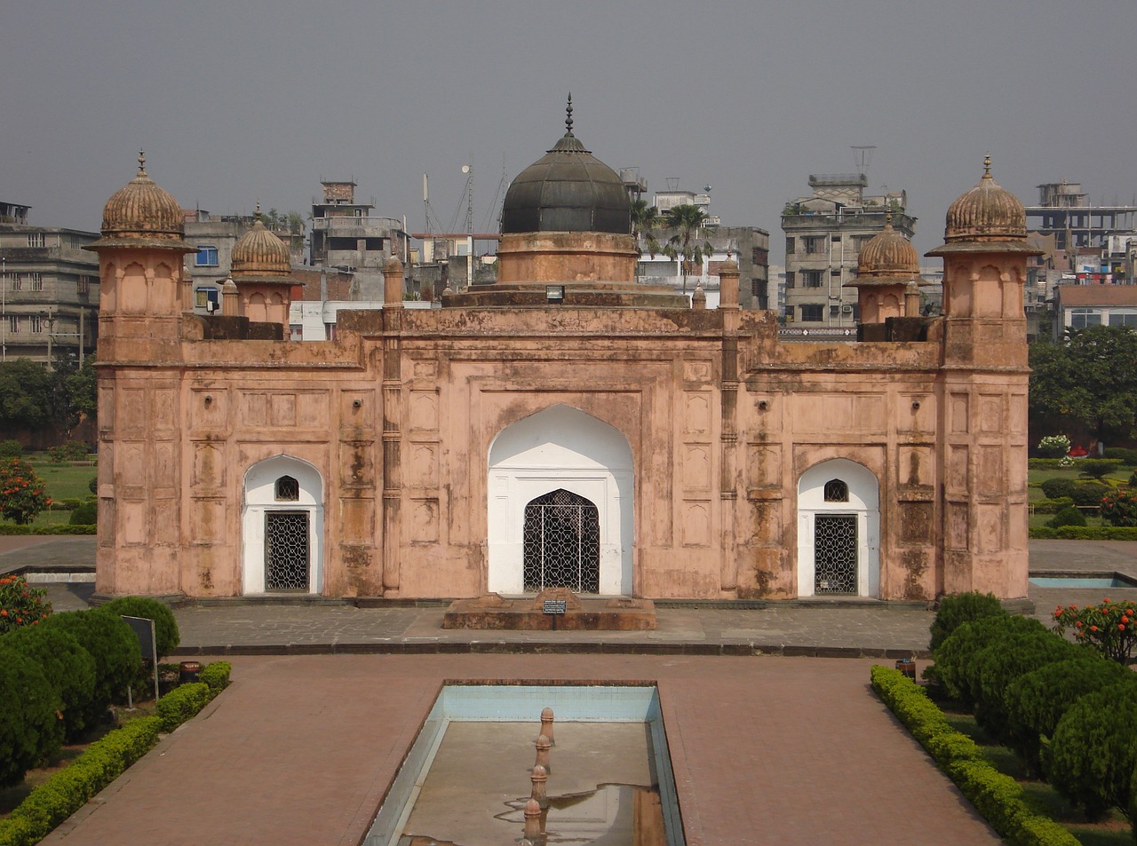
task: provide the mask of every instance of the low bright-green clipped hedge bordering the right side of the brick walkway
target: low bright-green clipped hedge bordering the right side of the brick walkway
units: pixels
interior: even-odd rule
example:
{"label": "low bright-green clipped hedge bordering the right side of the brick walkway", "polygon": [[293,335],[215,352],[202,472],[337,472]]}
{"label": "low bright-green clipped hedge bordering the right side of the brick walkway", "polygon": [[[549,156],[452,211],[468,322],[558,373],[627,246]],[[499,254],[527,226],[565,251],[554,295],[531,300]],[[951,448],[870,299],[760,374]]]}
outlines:
{"label": "low bright-green clipped hedge bordering the right side of the brick walkway", "polygon": [[928,749],[1001,837],[1011,846],[1079,846],[1062,826],[1030,812],[1022,788],[982,757],[966,735],[948,726],[944,712],[899,670],[874,665],[872,689]]}

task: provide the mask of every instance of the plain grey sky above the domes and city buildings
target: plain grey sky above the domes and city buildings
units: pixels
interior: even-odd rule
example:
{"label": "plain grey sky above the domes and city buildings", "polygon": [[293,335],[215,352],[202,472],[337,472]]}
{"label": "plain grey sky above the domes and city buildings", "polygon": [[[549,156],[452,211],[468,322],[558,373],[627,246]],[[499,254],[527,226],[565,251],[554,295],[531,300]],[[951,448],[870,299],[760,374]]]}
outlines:
{"label": "plain grey sky above the domes and city buildings", "polygon": [[[0,10],[0,199],[97,229],[147,169],[185,207],[306,215],[354,176],[376,213],[442,225],[475,171],[475,227],[564,129],[650,190],[712,185],[712,212],[771,233],[810,173],[906,189],[916,246],[982,174],[1137,194],[1134,0],[299,2],[155,0]],[[464,217],[462,218],[464,219]],[[492,227],[491,227],[492,228]]]}

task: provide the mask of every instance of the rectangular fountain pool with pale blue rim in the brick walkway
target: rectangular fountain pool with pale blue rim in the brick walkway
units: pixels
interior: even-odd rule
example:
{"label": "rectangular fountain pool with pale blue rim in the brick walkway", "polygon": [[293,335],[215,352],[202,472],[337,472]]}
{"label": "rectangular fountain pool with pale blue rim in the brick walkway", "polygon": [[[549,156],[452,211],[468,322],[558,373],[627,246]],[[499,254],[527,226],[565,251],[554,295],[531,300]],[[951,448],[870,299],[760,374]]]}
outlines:
{"label": "rectangular fountain pool with pale blue rim in the brick walkway", "polygon": [[487,846],[524,831],[541,712],[554,712],[547,844],[682,846],[653,685],[443,686],[365,846]]}

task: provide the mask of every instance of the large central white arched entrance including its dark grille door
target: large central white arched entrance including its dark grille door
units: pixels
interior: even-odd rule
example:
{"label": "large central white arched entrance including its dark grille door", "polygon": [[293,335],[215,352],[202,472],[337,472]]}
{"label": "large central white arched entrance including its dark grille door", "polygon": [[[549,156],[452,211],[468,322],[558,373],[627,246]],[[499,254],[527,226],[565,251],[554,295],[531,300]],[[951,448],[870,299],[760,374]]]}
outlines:
{"label": "large central white arched entrance including its dark grille door", "polygon": [[615,428],[554,405],[490,445],[488,587],[632,593],[632,454]]}

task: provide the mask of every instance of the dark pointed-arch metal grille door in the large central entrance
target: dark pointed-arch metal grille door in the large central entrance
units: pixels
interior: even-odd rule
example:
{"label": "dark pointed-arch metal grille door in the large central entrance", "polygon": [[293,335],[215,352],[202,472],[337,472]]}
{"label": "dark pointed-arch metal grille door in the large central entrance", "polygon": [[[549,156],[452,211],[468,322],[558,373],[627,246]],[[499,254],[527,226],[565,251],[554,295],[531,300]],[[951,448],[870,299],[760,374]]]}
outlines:
{"label": "dark pointed-arch metal grille door in the large central entrance", "polygon": [[568,491],[554,491],[525,505],[525,590],[567,587],[600,590],[600,514]]}

